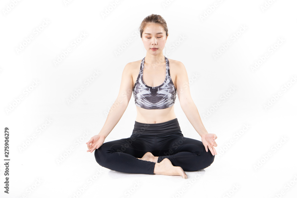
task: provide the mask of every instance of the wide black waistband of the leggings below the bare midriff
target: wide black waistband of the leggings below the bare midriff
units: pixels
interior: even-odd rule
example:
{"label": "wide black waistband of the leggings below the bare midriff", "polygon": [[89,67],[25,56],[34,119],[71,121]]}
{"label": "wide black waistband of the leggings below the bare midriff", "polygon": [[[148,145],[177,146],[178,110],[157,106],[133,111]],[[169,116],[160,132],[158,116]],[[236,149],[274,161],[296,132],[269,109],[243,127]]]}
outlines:
{"label": "wide black waistband of the leggings below the bare midriff", "polygon": [[135,121],[134,129],[132,135],[135,134],[164,134],[170,132],[180,132],[181,128],[179,126],[177,118],[173,120],[169,120],[167,122],[162,123],[140,123]]}

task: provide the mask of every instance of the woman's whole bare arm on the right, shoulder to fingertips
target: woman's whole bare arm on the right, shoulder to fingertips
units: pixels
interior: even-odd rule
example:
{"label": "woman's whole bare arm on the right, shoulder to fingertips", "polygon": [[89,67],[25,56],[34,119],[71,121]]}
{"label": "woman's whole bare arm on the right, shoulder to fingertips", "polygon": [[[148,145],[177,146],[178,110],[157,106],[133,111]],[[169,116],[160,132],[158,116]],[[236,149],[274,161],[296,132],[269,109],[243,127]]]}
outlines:
{"label": "woman's whole bare arm on the right, shoulder to fingertips", "polygon": [[213,148],[214,146],[217,146],[217,143],[214,141],[217,139],[217,135],[209,134],[205,129],[198,113],[198,109],[190,94],[187,70],[184,64],[180,61],[177,61],[177,63],[176,90],[181,104],[181,109],[184,111],[194,129],[201,136],[201,140],[206,151],[209,149],[213,155],[217,154],[216,150]]}

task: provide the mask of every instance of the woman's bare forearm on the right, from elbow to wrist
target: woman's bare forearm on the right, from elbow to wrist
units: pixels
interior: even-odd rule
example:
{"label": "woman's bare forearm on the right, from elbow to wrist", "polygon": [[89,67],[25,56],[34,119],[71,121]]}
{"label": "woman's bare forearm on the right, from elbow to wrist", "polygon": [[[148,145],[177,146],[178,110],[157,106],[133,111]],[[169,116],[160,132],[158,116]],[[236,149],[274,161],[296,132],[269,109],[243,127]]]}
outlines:
{"label": "woman's bare forearm on the right, from elbow to wrist", "polygon": [[200,136],[202,136],[202,134],[208,133],[201,121],[198,109],[192,99],[186,104],[183,104],[181,109],[184,111],[188,120]]}

